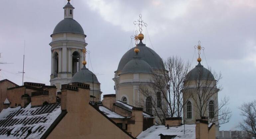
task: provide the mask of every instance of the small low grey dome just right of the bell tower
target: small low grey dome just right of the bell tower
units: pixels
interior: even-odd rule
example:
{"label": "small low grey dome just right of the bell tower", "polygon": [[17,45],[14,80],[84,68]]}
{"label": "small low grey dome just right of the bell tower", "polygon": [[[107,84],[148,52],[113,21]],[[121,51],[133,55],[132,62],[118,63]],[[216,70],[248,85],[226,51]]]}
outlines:
{"label": "small low grey dome just right of the bell tower", "polygon": [[72,82],[92,83],[92,76],[93,76],[93,83],[99,83],[95,74],[93,74],[90,70],[88,70],[85,66],[83,66],[81,70],[79,70],[74,74],[70,83]]}

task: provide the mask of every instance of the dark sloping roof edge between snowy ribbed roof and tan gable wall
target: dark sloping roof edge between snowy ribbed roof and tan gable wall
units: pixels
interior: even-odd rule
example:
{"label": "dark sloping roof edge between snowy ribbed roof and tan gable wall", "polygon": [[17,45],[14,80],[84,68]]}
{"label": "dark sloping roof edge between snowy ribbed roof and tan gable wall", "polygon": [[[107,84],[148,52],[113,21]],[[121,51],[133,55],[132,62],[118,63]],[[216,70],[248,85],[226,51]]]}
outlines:
{"label": "dark sloping roof edge between snowy ribbed roof and tan gable wall", "polygon": [[40,139],[46,139],[66,114],[67,111],[62,110],[61,114],[55,119],[55,121],[50,125],[50,127],[46,130],[46,132],[41,136]]}

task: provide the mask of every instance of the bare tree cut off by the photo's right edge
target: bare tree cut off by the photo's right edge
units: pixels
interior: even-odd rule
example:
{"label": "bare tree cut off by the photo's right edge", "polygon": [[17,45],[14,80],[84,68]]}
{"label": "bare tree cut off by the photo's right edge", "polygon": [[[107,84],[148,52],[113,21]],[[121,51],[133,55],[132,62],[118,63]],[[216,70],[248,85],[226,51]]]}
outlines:
{"label": "bare tree cut off by the photo's right edge", "polygon": [[239,107],[243,120],[239,122],[238,128],[246,131],[248,134],[256,137],[256,100],[248,103],[243,103]]}

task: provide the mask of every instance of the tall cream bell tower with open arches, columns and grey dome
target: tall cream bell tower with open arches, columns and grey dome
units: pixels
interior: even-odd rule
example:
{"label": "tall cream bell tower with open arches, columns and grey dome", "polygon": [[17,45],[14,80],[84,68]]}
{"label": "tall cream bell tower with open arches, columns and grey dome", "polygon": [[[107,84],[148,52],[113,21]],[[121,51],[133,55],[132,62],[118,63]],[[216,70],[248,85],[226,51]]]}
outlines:
{"label": "tall cream bell tower with open arches, columns and grey dome", "polygon": [[80,70],[82,50],[85,49],[86,35],[81,25],[73,20],[74,7],[68,0],[64,9],[64,20],[54,28],[51,46],[51,85],[60,91],[62,84],[70,83],[72,76]]}

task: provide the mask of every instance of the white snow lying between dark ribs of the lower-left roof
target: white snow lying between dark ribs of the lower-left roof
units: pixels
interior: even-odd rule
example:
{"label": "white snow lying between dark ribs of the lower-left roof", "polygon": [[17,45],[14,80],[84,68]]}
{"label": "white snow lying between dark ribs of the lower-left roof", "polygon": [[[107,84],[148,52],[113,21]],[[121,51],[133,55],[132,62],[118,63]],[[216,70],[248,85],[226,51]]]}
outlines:
{"label": "white snow lying between dark ribs of the lower-left roof", "polygon": [[[45,106],[44,110],[47,110],[48,108],[51,108],[51,105]],[[56,104],[57,105],[57,104]],[[59,105],[59,104],[58,104]],[[44,107],[44,106],[42,106]],[[0,129],[2,128],[7,128],[7,130],[12,129],[11,131],[11,135],[7,136],[7,134],[2,134],[0,135],[0,138],[4,138],[4,139],[13,139],[13,138],[26,138],[28,131],[26,131],[24,134],[22,134],[22,130],[21,128],[25,128],[28,127],[30,129],[32,129],[32,133],[30,135],[28,135],[27,138],[29,139],[39,139],[41,138],[41,136],[46,132],[46,130],[51,126],[51,124],[56,120],[56,118],[61,114],[61,107],[60,105],[55,108],[51,113],[43,113],[43,114],[33,114],[34,112],[40,111],[42,107],[34,107],[31,108],[31,104],[29,104],[26,108],[21,108],[16,107],[16,108],[7,108],[4,109],[1,113],[0,113],[0,120],[7,120],[8,116],[13,115],[12,119],[16,120],[16,121],[22,121],[24,120],[35,120],[38,119],[38,123],[34,122],[34,123],[27,123],[24,124],[24,122],[14,122],[14,124],[7,124],[6,127],[0,127]],[[18,115],[16,115],[17,112],[20,112]],[[41,118],[42,117],[42,118]],[[41,131],[37,130],[35,132],[35,130],[40,126]],[[6,130],[6,131],[7,131]],[[28,130],[28,129],[26,129]],[[19,136],[14,136],[15,133],[18,132]]]}

